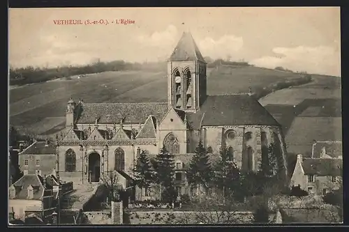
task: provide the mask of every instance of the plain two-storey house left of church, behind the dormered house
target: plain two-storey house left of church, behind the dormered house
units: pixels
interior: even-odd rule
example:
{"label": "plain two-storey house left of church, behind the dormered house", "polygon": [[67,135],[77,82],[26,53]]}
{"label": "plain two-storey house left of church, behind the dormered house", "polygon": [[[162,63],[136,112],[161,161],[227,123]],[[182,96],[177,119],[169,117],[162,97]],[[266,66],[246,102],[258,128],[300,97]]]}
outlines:
{"label": "plain two-storey house left of church, behind the dormered house", "polygon": [[24,175],[49,176],[56,167],[56,146],[47,141],[34,141],[19,153],[18,163]]}

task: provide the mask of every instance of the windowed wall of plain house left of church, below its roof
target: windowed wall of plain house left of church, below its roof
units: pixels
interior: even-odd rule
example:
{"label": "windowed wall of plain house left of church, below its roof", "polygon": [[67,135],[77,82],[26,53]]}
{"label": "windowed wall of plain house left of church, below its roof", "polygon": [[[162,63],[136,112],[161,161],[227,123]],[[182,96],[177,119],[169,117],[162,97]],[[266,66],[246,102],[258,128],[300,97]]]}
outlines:
{"label": "windowed wall of plain house left of church, below its roof", "polygon": [[[28,166],[24,165],[24,160],[28,160]],[[36,160],[40,160],[40,165],[36,166]],[[36,174],[36,170],[41,171],[41,176],[52,174],[56,167],[56,155],[20,155],[20,170],[28,171],[28,174]]]}

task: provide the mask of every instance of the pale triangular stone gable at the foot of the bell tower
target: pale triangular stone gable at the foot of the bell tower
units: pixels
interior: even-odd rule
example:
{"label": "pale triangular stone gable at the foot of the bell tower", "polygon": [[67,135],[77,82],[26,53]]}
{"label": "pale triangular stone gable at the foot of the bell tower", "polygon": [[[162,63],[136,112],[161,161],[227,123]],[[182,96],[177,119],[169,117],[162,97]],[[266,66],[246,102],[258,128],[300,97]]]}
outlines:
{"label": "pale triangular stone gable at the foot of the bell tower", "polygon": [[184,118],[184,111],[170,108],[168,113],[163,118],[163,121],[160,123],[160,130],[186,130]]}

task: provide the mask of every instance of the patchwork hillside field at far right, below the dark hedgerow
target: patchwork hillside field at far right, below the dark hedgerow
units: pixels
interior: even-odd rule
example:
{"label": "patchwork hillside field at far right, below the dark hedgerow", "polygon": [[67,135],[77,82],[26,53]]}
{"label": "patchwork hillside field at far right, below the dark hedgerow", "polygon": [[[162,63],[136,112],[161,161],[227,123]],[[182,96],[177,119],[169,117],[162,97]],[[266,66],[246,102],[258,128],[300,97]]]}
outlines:
{"label": "patchwork hillside field at far right, below the dark hedgerow", "polygon": [[283,126],[289,153],[311,154],[313,140],[342,140],[341,78],[313,75],[313,82],[260,99]]}

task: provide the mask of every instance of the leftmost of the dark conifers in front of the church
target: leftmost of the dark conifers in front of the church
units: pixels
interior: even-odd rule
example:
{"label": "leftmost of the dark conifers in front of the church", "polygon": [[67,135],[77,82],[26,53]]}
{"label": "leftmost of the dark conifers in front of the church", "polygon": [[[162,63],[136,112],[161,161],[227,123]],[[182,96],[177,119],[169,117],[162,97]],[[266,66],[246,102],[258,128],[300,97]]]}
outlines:
{"label": "leftmost of the dark conifers in front of the church", "polygon": [[144,187],[148,188],[151,185],[153,175],[148,155],[144,152],[144,150],[142,150],[142,153],[140,153],[133,171],[135,175],[135,185],[140,187],[141,191]]}

